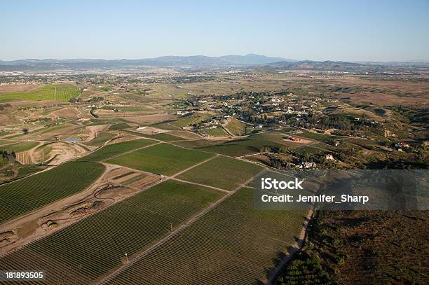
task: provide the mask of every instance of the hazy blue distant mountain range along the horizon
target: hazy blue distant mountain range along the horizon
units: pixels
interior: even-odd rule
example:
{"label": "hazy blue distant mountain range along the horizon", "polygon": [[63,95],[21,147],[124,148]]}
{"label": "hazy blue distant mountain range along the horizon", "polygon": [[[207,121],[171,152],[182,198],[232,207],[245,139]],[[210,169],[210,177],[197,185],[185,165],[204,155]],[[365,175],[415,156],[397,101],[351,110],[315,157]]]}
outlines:
{"label": "hazy blue distant mountain range along the horizon", "polygon": [[222,57],[165,56],[141,60],[13,60],[1,61],[0,71],[55,71],[55,70],[97,70],[97,69],[144,69],[147,67],[194,67],[226,68],[247,67],[252,69],[285,69],[285,70],[332,70],[332,71],[376,71],[380,67],[428,67],[423,62],[333,62],[333,61],[298,61],[282,57],[265,55],[225,55]]}

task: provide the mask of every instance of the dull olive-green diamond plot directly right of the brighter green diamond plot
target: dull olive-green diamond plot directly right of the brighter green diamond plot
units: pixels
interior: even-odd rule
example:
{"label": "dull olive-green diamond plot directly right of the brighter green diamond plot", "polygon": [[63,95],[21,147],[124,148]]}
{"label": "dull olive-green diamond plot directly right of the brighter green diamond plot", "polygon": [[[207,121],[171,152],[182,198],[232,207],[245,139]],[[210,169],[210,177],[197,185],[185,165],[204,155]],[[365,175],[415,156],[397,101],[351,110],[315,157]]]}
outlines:
{"label": "dull olive-green diamond plot directly right of the brighter green diamond plot", "polygon": [[233,190],[262,169],[263,167],[250,162],[219,156],[180,174],[177,178],[224,190]]}

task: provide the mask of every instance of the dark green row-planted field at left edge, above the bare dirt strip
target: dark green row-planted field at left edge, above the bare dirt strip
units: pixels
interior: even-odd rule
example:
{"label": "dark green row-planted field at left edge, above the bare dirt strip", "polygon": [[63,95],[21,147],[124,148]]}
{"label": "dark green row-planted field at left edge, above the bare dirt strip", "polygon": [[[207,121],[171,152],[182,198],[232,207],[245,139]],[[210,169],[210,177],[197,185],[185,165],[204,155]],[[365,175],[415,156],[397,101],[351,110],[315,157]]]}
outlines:
{"label": "dark green row-planted field at left edge, above the bare dirt strip", "polygon": [[95,181],[103,170],[104,166],[100,163],[68,162],[0,186],[0,223],[80,192]]}

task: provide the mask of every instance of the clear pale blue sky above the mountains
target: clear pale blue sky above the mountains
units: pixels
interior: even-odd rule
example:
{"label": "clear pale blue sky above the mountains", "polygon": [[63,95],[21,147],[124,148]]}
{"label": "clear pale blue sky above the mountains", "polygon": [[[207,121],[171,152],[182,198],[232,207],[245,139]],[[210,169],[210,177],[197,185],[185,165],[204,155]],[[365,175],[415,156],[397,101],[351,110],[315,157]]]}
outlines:
{"label": "clear pale blue sky above the mountains", "polygon": [[429,1],[6,1],[0,60],[429,60]]}

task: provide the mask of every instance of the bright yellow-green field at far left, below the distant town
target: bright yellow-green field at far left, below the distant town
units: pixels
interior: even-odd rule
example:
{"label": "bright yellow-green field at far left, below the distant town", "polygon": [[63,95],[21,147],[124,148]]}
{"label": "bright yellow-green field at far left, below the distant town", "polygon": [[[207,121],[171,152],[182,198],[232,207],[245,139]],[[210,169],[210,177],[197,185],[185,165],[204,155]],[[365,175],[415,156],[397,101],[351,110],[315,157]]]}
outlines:
{"label": "bright yellow-green field at far left, below the distant town", "polygon": [[70,84],[44,85],[27,92],[13,92],[0,95],[0,101],[62,101],[69,102],[71,98],[79,97],[81,90]]}

